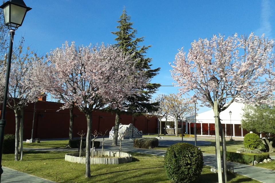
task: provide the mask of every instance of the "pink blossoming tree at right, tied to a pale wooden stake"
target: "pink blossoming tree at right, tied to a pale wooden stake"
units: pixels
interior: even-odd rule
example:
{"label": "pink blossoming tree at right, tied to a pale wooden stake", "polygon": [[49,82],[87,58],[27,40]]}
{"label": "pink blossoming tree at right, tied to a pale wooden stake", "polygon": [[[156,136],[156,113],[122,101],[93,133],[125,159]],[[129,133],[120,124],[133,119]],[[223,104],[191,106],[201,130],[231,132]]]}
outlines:
{"label": "pink blossoming tree at right, tied to a pale wooden stake", "polygon": [[[203,105],[213,110],[216,101],[218,119],[236,98],[266,103],[274,96],[274,41],[264,35],[214,35],[194,40],[187,57],[182,48],[170,65],[177,82],[174,85],[181,87],[180,94],[193,91]],[[226,152],[224,134],[223,147]]]}

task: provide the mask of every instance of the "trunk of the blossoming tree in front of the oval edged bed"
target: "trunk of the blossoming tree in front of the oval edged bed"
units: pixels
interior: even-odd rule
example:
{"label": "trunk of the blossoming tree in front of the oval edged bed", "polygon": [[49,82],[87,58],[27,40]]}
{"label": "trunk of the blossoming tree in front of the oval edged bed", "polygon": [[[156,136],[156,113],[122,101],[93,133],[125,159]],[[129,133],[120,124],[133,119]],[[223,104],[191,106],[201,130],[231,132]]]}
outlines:
{"label": "trunk of the blossoming tree in front of the oval edged bed", "polygon": [[90,145],[91,145],[91,129],[92,129],[92,114],[85,114],[87,118],[87,135],[86,135],[86,172],[85,177],[91,177],[91,167],[90,167]]}

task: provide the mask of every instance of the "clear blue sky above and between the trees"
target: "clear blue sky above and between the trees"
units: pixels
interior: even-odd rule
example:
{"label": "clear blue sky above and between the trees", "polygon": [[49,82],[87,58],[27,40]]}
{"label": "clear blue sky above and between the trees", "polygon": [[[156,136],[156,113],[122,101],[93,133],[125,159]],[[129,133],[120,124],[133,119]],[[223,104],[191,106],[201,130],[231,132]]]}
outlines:
{"label": "clear blue sky above and between the trees", "polygon": [[[256,35],[266,33],[274,38],[275,1],[91,1],[91,0],[24,0],[31,8],[22,27],[15,32],[15,42],[21,35],[25,46],[44,55],[65,41],[76,45],[104,42],[114,44],[116,22],[125,6],[137,37],[144,36],[144,45],[152,45],[148,57],[152,68],[161,67],[152,82],[171,85],[168,62],[178,49],[190,48],[194,39],[213,34],[234,33]],[[158,93],[177,93],[175,87],[160,87]],[[200,108],[203,112],[207,108]]]}

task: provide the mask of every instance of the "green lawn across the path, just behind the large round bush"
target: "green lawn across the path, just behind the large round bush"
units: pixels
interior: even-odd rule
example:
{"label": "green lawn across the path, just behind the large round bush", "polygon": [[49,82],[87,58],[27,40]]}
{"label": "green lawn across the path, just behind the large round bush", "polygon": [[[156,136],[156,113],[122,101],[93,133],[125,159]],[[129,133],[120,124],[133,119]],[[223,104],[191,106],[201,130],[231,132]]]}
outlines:
{"label": "green lawn across the path, just behind the large round bush", "polygon": [[[206,146],[198,146],[201,148],[203,153],[215,154],[215,140],[209,140],[211,144]],[[227,141],[226,142],[226,151],[236,152],[237,149],[243,147],[243,141],[235,140],[235,141]],[[166,150],[169,148],[168,146],[159,146],[154,149]],[[222,150],[222,149],[221,149]]]}

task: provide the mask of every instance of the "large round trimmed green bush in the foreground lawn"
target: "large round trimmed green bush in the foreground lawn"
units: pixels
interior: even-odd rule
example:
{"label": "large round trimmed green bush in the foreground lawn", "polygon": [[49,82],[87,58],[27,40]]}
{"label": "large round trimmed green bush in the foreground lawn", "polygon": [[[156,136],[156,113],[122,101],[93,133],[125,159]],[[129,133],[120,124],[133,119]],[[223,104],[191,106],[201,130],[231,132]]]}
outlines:
{"label": "large round trimmed green bush in the foreground lawn", "polygon": [[164,169],[173,183],[194,182],[203,169],[203,153],[188,143],[177,143],[167,149]]}

